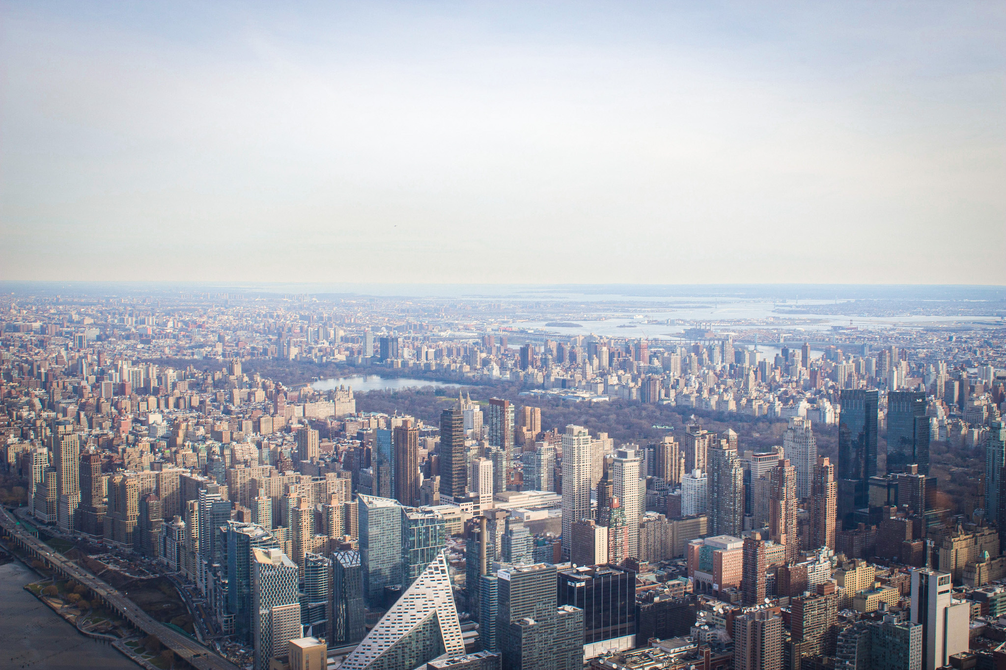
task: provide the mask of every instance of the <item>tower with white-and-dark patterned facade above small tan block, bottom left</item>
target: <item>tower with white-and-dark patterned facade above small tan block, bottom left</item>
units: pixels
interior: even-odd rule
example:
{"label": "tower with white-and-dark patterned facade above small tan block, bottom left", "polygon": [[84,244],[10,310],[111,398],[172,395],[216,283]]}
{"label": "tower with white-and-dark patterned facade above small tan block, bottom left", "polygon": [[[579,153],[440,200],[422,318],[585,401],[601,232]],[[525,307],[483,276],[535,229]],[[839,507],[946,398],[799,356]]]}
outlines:
{"label": "tower with white-and-dark patterned facade above small tan block, bottom left", "polygon": [[287,643],[302,637],[297,566],[278,548],[252,549],[252,630],[255,670],[287,653]]}

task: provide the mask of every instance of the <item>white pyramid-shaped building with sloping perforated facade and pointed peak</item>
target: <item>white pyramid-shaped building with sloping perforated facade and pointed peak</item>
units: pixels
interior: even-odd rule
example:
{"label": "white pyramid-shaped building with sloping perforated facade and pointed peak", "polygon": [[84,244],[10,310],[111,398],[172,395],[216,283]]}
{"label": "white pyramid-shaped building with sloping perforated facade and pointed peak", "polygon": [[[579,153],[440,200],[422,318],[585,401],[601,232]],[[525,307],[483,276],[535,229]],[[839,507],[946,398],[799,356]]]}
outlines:
{"label": "white pyramid-shaped building with sloping perforated facade and pointed peak", "polygon": [[464,651],[447,553],[441,551],[339,670],[414,668],[442,654]]}

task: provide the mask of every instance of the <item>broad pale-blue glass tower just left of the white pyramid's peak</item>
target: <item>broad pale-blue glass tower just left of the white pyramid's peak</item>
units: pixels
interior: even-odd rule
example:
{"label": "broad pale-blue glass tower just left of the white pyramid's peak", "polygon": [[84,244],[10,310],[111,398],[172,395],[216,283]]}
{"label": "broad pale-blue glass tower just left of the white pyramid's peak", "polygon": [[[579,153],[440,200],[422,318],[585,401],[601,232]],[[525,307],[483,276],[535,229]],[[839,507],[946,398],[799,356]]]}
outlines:
{"label": "broad pale-blue glass tower just left of the white pyramid's peak", "polygon": [[359,496],[363,598],[380,607],[384,587],[401,586],[401,506],[395,500]]}

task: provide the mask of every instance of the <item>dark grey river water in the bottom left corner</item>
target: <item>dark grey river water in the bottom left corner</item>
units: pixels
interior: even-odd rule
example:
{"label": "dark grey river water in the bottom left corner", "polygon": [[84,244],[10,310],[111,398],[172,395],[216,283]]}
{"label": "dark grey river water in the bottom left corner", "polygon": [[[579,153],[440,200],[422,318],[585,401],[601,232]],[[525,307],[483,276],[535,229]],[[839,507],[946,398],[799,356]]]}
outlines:
{"label": "dark grey river water in the bottom left corner", "polygon": [[77,632],[24,590],[36,580],[17,561],[0,566],[0,668],[137,670],[114,647]]}

